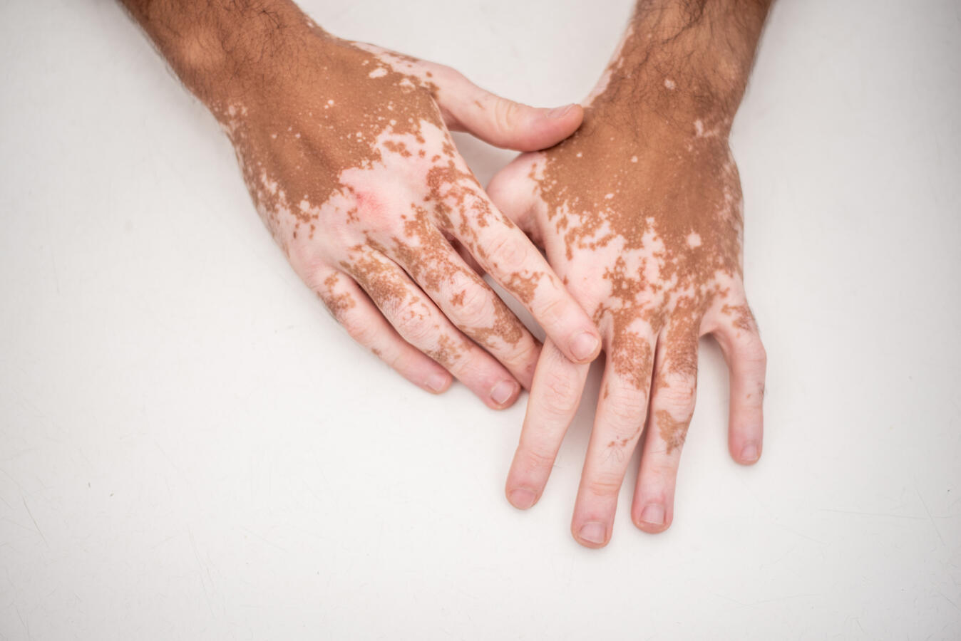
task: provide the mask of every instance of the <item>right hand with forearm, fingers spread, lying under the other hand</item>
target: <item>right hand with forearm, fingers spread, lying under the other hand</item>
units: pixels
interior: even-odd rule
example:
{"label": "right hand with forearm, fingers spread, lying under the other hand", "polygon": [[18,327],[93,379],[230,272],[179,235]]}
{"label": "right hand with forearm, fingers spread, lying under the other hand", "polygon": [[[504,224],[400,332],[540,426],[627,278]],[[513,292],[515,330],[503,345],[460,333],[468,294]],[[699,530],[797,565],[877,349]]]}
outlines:
{"label": "right hand with forearm, fingers spread, lying under the other hand", "polygon": [[[582,545],[609,541],[638,446],[631,518],[649,533],[671,525],[702,335],[718,340],[730,370],[730,454],[744,464],[760,456],[766,356],[744,290],[741,187],[727,136],[768,9],[638,3],[579,131],[519,156],[489,185],[604,337],[571,524]],[[506,482],[515,507],[541,496],[588,368],[544,344]]]}

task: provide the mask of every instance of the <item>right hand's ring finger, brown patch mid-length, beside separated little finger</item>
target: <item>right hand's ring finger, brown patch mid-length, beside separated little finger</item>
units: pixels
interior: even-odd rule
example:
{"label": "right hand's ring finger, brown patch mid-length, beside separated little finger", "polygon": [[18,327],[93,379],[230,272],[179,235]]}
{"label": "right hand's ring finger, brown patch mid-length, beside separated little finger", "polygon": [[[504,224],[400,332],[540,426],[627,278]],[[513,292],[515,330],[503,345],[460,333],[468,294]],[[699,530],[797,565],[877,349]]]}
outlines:
{"label": "right hand's ring finger, brown patch mid-length, beside separated little finger", "polygon": [[680,450],[694,415],[698,336],[670,328],[661,335],[654,359],[651,412],[644,439],[631,520],[644,532],[663,532],[674,518]]}

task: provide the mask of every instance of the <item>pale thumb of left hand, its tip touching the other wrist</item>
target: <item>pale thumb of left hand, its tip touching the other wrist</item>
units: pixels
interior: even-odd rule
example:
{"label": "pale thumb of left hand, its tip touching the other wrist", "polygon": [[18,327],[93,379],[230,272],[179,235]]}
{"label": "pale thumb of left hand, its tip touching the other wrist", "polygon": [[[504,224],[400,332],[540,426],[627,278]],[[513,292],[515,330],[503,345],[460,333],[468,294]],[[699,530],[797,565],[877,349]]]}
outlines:
{"label": "pale thumb of left hand, its tip touching the other wrist", "polygon": [[495,147],[535,152],[551,147],[580,127],[579,105],[537,108],[515,103],[456,75],[437,93],[447,126],[468,131]]}

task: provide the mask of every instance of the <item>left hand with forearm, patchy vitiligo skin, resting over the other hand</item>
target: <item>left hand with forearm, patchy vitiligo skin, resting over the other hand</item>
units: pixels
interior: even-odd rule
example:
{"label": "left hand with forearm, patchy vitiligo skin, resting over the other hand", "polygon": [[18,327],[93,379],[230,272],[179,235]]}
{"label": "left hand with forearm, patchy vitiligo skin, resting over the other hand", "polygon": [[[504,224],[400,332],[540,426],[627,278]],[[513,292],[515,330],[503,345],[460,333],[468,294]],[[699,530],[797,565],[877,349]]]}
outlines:
{"label": "left hand with forearm, patchy vitiligo skin, resting over the other hand", "polygon": [[482,269],[566,357],[597,357],[594,323],[450,134],[542,149],[577,129],[580,107],[511,103],[449,67],[331,36],[285,0],[123,1],[227,132],[294,271],[359,344],[429,392],[453,374],[509,406],[540,344]]}

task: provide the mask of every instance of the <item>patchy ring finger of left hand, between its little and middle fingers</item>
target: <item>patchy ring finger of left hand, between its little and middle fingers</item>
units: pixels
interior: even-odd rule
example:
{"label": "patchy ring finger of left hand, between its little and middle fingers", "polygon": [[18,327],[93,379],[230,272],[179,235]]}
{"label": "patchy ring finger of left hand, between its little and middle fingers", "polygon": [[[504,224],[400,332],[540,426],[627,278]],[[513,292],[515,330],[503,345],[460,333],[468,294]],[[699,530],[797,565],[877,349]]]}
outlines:
{"label": "patchy ring finger of left hand, between its little and middle fingers", "polygon": [[520,385],[489,354],[461,334],[396,263],[360,249],[341,264],[407,341],[480,397],[488,407],[511,405]]}

